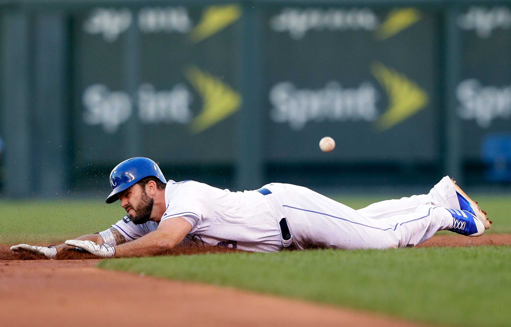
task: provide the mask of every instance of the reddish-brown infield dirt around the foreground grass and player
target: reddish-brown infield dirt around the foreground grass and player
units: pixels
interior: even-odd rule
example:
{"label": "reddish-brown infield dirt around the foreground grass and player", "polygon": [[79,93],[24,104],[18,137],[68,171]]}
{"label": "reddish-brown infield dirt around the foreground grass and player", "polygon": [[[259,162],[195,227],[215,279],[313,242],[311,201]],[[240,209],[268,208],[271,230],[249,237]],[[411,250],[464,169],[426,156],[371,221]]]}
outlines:
{"label": "reddish-brown infield dirt around the foreground grass and player", "polygon": [[[421,246],[477,245],[511,245],[511,235],[437,236]],[[191,253],[197,251],[185,254]],[[95,268],[98,260],[90,254],[76,251],[59,253],[62,260],[34,259],[41,258],[0,246],[2,325],[417,325],[305,301],[105,271]]]}

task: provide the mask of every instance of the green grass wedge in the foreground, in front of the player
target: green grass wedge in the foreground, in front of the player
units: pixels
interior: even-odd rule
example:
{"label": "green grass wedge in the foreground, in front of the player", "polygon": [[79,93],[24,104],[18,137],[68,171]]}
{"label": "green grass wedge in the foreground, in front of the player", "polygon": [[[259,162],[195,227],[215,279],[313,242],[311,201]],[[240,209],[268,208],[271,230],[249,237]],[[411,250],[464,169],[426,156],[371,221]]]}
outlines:
{"label": "green grass wedge in the foreground, in front of the player", "polygon": [[509,246],[202,254],[111,259],[99,266],[426,323],[509,325]]}

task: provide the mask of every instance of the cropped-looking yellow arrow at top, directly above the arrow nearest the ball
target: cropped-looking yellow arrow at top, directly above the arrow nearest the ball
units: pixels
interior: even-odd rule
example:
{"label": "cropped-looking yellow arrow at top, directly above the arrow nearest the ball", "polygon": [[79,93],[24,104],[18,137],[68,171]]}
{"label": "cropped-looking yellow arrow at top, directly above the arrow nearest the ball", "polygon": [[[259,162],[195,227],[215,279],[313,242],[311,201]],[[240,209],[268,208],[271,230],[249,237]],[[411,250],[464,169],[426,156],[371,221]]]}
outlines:
{"label": "cropped-looking yellow arrow at top, directly above the arrow nearest the ball", "polygon": [[375,36],[379,40],[388,39],[419,20],[421,20],[421,12],[415,8],[393,9],[375,32]]}

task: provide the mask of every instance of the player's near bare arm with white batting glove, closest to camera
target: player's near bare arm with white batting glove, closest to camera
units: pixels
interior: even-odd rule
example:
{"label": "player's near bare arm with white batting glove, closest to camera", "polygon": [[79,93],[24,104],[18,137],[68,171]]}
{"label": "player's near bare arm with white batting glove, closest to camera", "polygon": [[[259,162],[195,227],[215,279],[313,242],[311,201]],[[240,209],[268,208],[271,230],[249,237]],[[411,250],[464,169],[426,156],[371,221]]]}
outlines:
{"label": "player's near bare arm with white batting glove, closest to camera", "polygon": [[111,256],[146,256],[172,249],[192,230],[192,225],[181,217],[160,222],[158,229],[134,241],[119,245],[96,244],[90,241],[67,240],[65,244],[82,248],[92,254]]}

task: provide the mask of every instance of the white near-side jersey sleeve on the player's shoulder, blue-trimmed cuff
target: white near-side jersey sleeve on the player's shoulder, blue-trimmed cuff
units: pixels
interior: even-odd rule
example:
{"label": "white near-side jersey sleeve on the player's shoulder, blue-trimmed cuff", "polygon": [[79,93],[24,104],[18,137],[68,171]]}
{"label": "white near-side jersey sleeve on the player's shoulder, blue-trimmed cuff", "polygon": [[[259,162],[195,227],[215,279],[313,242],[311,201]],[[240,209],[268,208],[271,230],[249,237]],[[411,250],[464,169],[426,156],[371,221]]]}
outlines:
{"label": "white near-side jersey sleeve on the player's shoulder, blue-trimmed cuff", "polygon": [[190,233],[193,233],[200,228],[210,207],[210,201],[199,188],[192,183],[185,183],[172,193],[161,221],[181,217],[192,225]]}

